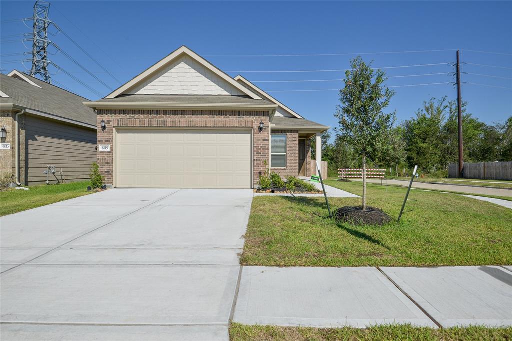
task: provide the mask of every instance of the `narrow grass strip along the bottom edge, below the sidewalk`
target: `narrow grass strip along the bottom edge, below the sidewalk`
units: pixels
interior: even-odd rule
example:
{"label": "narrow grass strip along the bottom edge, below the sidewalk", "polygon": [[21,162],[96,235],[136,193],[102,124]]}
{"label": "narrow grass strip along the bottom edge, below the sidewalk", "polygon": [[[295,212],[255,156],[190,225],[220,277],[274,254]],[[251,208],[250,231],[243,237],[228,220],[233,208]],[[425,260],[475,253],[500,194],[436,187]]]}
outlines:
{"label": "narrow grass strip along the bottom edge, below the sidewalk", "polygon": [[231,341],[364,341],[364,340],[510,340],[512,327],[479,326],[434,329],[412,325],[379,325],[371,328],[307,328],[278,326],[247,326],[233,323],[229,328]]}

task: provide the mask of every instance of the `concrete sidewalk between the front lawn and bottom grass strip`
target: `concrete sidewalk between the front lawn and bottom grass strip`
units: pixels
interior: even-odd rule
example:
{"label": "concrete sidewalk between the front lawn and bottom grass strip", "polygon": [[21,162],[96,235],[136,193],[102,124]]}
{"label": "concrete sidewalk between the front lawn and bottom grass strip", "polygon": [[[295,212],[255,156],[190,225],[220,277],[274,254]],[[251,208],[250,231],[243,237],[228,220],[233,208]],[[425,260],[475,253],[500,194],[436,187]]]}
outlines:
{"label": "concrete sidewalk between the front lawn and bottom grass strip", "polygon": [[310,327],[383,323],[512,326],[500,266],[244,266],[233,322]]}

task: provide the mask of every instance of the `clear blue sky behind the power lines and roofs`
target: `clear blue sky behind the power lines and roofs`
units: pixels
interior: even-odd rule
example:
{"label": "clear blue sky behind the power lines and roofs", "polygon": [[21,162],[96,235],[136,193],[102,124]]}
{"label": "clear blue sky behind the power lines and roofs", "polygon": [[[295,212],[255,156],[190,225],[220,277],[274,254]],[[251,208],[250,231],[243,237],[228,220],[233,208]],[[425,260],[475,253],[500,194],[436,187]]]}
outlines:
{"label": "clear blue sky behind the power lines and roofs", "polygon": [[[2,1],[0,55],[2,72],[24,58],[10,55],[29,51],[20,41],[30,32],[21,20],[31,16],[33,2]],[[53,1],[50,18],[94,56],[121,82],[130,80],[182,44],[204,56],[231,76],[251,81],[342,79],[343,72],[249,73],[346,69],[354,55],[292,57],[219,57],[211,55],[275,55],[366,53],[463,49],[463,99],[468,110],[484,122],[512,115],[512,2],[78,2]],[[31,23],[27,24],[29,27]],[[55,32],[55,30],[53,30]],[[50,38],[97,77],[116,88],[120,84],[100,69],[61,33]],[[14,40],[14,41],[12,41]],[[478,53],[467,50],[499,52]],[[55,53],[55,50],[52,50]],[[10,56],[5,56],[10,55]],[[455,51],[364,54],[376,67],[453,63]],[[51,60],[97,89],[110,90],[60,53]],[[485,67],[473,64],[497,65]],[[30,62],[25,63],[30,67]],[[51,68],[52,78],[73,92],[97,99],[87,88]],[[231,72],[233,71],[233,72]],[[241,71],[241,72],[238,72]],[[453,81],[452,66],[431,65],[386,69],[388,76],[443,73],[390,78],[389,86]],[[478,76],[481,74],[487,76]],[[504,77],[504,78],[496,78]],[[489,87],[480,83],[501,87]],[[313,90],[342,87],[339,81],[255,82],[264,90]],[[505,88],[502,88],[505,87]],[[398,120],[430,97],[455,99],[452,85],[396,87],[389,110]],[[337,92],[269,92],[306,118],[335,126]]]}

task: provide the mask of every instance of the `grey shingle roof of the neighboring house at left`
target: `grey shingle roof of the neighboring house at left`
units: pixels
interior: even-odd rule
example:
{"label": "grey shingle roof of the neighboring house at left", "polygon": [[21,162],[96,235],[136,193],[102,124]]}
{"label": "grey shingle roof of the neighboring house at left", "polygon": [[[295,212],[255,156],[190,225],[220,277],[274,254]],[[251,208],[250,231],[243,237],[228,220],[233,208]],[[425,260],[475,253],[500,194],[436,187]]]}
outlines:
{"label": "grey shingle roof of the neighboring house at left", "polygon": [[[58,86],[46,83],[19,71],[11,72],[13,76],[0,75],[0,89],[8,98],[0,98],[2,106],[32,109],[88,125],[96,126],[96,113],[93,109],[83,105],[89,102],[87,98],[80,97]],[[23,77],[20,77],[21,74]],[[16,78],[19,77],[19,78]],[[31,83],[24,80],[27,78]]]}

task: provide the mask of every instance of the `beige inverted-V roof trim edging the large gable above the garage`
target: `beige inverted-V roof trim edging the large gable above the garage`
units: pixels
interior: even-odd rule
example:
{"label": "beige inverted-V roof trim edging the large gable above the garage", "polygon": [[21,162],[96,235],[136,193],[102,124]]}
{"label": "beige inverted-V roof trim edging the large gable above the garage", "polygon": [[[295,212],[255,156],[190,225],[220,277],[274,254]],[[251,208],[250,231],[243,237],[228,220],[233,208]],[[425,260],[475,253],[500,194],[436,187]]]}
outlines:
{"label": "beige inverted-V roof trim edging the large gable above the garage", "polygon": [[148,78],[150,78],[152,75],[154,75],[158,71],[164,69],[168,64],[172,63],[177,58],[181,58],[184,55],[193,59],[195,62],[199,63],[200,65],[202,65],[203,67],[205,67],[206,69],[208,69],[209,71],[214,73],[217,77],[221,78],[226,83],[228,83],[231,86],[233,86],[234,88],[240,90],[240,92],[242,92],[243,94],[249,96],[252,99],[261,99],[261,97],[258,96],[257,94],[255,94],[253,91],[246,88],[245,86],[243,86],[242,84],[240,84],[239,82],[234,80],[233,78],[229,77],[229,75],[227,75],[226,73],[224,73],[223,71],[218,69],[218,67],[214,66],[213,64],[208,62],[206,59],[199,56],[197,53],[190,50],[189,48],[187,48],[184,45],[181,46],[180,48],[178,48],[177,50],[171,52],[165,58],[163,58],[160,61],[153,64],[152,66],[150,66],[148,69],[146,69],[139,75],[132,78],[129,82],[124,83],[123,85],[121,85],[120,87],[115,89],[112,93],[105,96],[104,98],[109,99],[109,98],[115,98],[119,95],[122,95],[126,90],[129,90],[130,88],[134,87],[135,85],[140,84],[141,82],[147,80]]}

